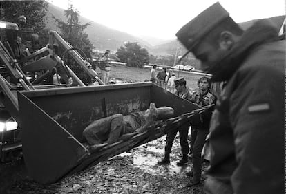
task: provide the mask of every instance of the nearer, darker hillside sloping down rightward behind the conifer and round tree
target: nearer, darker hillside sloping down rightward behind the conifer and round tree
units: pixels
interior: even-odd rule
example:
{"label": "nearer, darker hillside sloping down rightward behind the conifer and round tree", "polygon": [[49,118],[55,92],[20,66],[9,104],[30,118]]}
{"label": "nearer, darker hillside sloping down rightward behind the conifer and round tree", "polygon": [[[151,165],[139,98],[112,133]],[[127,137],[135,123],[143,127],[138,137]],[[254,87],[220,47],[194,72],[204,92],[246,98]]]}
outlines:
{"label": "nearer, darker hillside sloping down rightward behind the conifer and round tree", "polygon": [[[49,3],[48,6],[47,28],[59,31],[59,29],[55,26],[52,15],[58,19],[61,19],[62,21],[66,21],[66,17],[64,17],[64,9],[54,6],[51,3]],[[138,42],[147,50],[152,47],[147,41],[132,36],[131,34],[108,28],[104,25],[91,21],[90,19],[79,17],[79,21],[82,24],[90,22],[90,25],[88,28],[86,28],[85,32],[88,34],[88,39],[93,42],[97,50],[109,49],[116,51],[117,48],[124,45],[124,42],[127,41]]]}

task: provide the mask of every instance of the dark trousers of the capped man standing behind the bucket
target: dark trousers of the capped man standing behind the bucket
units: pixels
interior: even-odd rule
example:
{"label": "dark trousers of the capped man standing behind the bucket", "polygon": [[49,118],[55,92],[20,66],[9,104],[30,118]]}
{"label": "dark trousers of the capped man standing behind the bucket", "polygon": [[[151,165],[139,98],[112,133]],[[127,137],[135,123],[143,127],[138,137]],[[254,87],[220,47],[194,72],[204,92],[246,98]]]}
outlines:
{"label": "dark trousers of the capped man standing behind the bucket", "polygon": [[180,136],[180,145],[181,151],[183,155],[187,155],[189,151],[189,144],[188,144],[188,131],[189,125],[183,125],[180,129],[173,129],[166,134],[166,146],[165,146],[165,154],[170,154],[171,149],[173,146],[173,141],[177,132],[179,131]]}

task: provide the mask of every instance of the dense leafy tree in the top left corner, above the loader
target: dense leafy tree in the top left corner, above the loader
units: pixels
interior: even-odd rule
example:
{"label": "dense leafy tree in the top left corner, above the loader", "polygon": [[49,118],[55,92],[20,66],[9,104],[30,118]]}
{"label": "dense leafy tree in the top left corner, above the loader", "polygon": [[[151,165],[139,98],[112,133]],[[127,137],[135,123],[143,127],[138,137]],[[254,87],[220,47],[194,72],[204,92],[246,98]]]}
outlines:
{"label": "dense leafy tree in the top left corner, above the loader", "polygon": [[27,19],[25,28],[41,32],[48,23],[47,7],[46,1],[0,1],[0,19],[17,23],[18,17],[24,15]]}

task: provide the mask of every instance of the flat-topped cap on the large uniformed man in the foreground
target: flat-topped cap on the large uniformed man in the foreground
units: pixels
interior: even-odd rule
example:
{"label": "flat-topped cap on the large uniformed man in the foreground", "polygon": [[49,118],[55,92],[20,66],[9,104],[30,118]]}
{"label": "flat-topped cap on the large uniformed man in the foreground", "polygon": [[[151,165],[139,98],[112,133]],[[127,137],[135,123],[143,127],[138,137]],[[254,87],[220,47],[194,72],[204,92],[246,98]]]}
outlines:
{"label": "flat-topped cap on the large uniformed man in the foreground", "polygon": [[184,25],[177,34],[175,34],[182,45],[188,50],[182,58],[191,52],[193,47],[196,46],[208,32],[227,17],[229,17],[229,12],[227,12],[225,8],[222,8],[220,3],[217,2]]}

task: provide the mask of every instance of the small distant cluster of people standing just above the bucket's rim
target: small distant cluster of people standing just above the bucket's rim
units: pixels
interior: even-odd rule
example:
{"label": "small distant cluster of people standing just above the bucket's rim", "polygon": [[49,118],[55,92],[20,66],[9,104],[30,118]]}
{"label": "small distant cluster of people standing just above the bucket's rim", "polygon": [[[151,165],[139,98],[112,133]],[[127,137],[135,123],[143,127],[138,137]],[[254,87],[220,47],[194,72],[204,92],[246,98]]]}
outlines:
{"label": "small distant cluster of people standing just above the bucket's rim", "polygon": [[156,69],[157,69],[157,65],[153,65],[153,68],[151,69],[151,72],[150,72],[151,82],[174,93],[175,92],[174,80],[175,78],[177,78],[175,76],[175,73],[171,72],[170,70],[167,71],[166,68],[164,67],[162,71],[158,72],[157,74]]}

